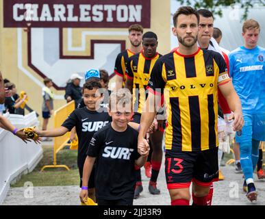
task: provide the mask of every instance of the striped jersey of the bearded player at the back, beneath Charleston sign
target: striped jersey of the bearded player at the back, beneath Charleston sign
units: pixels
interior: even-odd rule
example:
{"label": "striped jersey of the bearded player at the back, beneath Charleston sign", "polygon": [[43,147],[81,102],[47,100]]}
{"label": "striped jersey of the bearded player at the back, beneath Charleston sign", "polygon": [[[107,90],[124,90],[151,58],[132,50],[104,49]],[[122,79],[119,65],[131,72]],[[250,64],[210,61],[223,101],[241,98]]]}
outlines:
{"label": "striped jersey of the bearded player at the back, beneath Charleston sign", "polygon": [[135,53],[133,53],[129,49],[126,49],[125,51],[118,53],[116,57],[114,73],[116,73],[116,75],[120,77],[123,77],[123,87],[125,86],[125,81],[126,81],[125,72],[126,72],[127,62],[129,62],[129,57],[131,57],[134,54]]}

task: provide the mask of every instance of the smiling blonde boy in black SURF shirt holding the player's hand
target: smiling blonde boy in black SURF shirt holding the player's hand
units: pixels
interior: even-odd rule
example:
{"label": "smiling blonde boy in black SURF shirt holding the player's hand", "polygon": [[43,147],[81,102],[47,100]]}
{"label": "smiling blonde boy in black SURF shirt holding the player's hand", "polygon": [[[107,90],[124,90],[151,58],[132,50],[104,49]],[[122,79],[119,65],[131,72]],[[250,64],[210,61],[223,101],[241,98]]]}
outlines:
{"label": "smiling blonde boy in black SURF shirt holding the player's hand", "polygon": [[110,95],[109,114],[112,123],[94,133],[90,141],[79,198],[84,202],[88,197],[87,182],[97,158],[95,183],[98,205],[132,205],[136,183],[134,164],[144,165],[149,145],[138,147],[138,132],[127,125],[133,114],[129,90],[121,88]]}

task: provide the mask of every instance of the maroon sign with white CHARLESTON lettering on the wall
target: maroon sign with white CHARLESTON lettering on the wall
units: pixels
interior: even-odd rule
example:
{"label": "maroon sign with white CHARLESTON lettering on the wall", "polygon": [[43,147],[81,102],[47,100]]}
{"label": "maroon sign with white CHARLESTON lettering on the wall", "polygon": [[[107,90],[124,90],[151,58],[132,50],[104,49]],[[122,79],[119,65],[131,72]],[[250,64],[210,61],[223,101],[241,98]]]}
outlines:
{"label": "maroon sign with white CHARLESTON lettering on the wall", "polygon": [[150,28],[150,0],[4,0],[4,27]]}

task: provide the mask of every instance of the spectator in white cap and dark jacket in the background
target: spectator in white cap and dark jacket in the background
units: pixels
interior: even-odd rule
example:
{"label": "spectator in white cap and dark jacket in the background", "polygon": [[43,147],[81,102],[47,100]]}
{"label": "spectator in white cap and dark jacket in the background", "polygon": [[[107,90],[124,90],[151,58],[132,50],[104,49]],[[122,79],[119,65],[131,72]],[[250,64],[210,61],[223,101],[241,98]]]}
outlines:
{"label": "spectator in white cap and dark jacket in the background", "polygon": [[80,81],[83,77],[79,76],[78,74],[73,74],[70,77],[71,81],[67,83],[64,98],[66,99],[67,103],[74,100],[75,101],[75,108],[77,108],[77,104],[82,97]]}

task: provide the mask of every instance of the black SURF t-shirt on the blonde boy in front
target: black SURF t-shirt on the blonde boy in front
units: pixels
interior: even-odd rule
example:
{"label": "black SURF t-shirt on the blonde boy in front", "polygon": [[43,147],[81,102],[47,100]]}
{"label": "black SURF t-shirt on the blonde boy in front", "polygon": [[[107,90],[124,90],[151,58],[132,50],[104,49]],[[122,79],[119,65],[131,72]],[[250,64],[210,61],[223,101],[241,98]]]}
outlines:
{"label": "black SURF t-shirt on the blonde boy in front", "polygon": [[134,197],[134,162],[140,157],[137,141],[138,132],[129,125],[125,131],[118,132],[110,123],[94,133],[87,155],[97,157],[97,198],[114,200]]}

